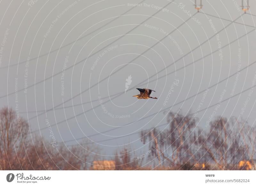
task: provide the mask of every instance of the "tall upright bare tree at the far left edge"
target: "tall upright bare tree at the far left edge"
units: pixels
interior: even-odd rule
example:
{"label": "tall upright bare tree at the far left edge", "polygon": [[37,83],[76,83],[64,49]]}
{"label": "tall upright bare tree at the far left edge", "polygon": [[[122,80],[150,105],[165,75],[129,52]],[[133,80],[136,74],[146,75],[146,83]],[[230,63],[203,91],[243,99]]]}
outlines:
{"label": "tall upright bare tree at the far left edge", "polygon": [[4,107],[0,110],[0,127],[0,168],[22,169],[27,159],[28,123]]}

